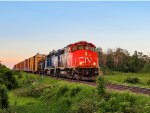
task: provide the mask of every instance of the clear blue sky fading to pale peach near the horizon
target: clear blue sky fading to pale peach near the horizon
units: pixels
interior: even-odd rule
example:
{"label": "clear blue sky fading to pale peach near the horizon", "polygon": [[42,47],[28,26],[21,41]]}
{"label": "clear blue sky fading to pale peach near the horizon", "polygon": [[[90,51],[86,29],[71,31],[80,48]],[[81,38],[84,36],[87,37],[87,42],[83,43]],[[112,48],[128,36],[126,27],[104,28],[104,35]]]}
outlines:
{"label": "clear blue sky fading to pale peach near the horizon", "polygon": [[0,61],[14,64],[77,41],[150,54],[150,2],[0,2]]}

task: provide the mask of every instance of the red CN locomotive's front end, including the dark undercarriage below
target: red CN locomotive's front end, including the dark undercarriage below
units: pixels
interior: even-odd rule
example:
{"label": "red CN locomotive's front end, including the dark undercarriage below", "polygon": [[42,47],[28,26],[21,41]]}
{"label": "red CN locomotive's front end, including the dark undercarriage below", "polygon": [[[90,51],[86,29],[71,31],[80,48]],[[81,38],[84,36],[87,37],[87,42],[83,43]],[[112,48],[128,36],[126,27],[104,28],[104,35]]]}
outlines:
{"label": "red CN locomotive's front end, including the dark undercarriage below", "polygon": [[82,80],[95,80],[98,71],[98,54],[92,43],[78,42],[70,45],[68,65],[74,69],[74,76]]}

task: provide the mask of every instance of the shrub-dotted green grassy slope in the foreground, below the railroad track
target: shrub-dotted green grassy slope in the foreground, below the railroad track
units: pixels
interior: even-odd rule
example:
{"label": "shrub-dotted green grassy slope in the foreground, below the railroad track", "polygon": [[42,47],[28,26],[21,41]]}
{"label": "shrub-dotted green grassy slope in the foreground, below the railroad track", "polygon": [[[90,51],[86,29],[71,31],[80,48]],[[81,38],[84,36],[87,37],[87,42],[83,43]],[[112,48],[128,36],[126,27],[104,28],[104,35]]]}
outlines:
{"label": "shrub-dotted green grassy slope in the foreground, below the railroad track", "polygon": [[[24,77],[25,76],[25,77]],[[150,97],[25,74],[20,87],[9,92],[12,113],[149,113]]]}

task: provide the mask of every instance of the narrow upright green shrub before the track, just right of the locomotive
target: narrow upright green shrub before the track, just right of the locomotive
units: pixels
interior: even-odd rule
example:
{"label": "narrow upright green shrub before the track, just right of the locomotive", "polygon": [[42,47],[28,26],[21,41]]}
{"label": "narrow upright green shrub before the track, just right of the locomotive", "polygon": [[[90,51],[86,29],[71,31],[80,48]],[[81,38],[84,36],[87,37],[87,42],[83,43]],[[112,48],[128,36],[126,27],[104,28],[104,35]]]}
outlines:
{"label": "narrow upright green shrub before the track, just right of the locomotive", "polygon": [[102,76],[98,77],[96,83],[97,83],[98,94],[103,96],[105,94],[105,89],[106,89],[104,78]]}

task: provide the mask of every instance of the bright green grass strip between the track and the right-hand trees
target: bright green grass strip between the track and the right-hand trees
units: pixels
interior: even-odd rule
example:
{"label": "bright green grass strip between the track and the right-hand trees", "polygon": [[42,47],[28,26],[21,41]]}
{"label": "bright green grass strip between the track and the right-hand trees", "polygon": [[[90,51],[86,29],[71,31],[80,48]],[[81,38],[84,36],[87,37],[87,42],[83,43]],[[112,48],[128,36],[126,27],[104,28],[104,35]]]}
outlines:
{"label": "bright green grass strip between the track and the right-hand trees", "polygon": [[[128,77],[130,78],[136,77],[140,81],[139,83],[131,84],[125,81]],[[148,80],[150,80],[150,73],[111,72],[109,74],[104,75],[104,78],[107,82],[110,82],[110,83],[150,88],[150,84],[147,83]]]}

